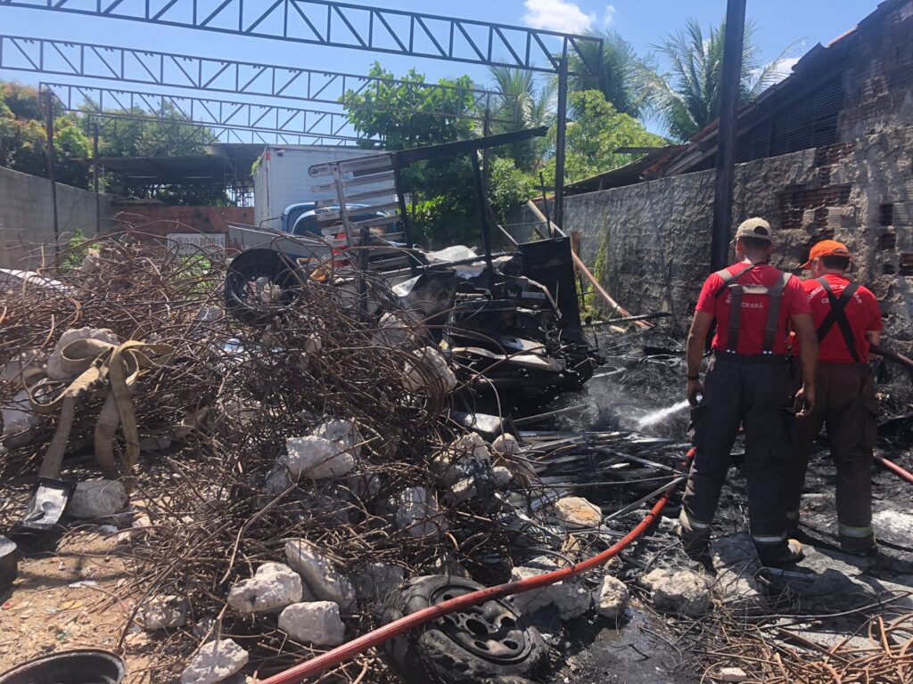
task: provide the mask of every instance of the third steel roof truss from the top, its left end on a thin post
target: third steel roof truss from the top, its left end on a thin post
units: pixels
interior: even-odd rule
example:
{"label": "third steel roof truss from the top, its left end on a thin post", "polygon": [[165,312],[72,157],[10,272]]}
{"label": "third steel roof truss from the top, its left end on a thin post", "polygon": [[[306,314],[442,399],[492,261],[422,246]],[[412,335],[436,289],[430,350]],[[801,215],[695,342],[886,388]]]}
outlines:
{"label": "third steel roof truss from the top, its left end on a thin post", "polygon": [[382,142],[381,139],[359,135],[351,129],[346,115],[337,112],[65,83],[42,83],[39,88],[51,93],[62,109],[83,114],[114,118],[140,117],[177,124],[201,124],[216,129],[307,136],[320,140]]}

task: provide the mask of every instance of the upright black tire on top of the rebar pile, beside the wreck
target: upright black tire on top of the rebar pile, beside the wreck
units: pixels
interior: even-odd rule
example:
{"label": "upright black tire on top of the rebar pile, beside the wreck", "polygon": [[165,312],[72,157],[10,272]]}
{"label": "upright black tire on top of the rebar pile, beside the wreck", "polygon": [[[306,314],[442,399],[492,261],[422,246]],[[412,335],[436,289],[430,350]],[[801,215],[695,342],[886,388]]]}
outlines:
{"label": "upright black tire on top of the rebar pile, beside the wreck", "polygon": [[241,323],[261,326],[299,298],[304,279],[288,256],[271,249],[248,249],[228,265],[226,310]]}

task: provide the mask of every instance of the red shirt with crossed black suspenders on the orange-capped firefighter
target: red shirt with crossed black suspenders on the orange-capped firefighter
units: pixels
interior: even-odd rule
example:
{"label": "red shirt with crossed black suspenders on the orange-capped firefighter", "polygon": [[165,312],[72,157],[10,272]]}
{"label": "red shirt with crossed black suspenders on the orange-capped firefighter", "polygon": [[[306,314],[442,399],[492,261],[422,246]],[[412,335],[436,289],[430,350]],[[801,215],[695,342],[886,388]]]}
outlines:
{"label": "red shirt with crossed black suspenders on the orange-capped firefighter", "polygon": [[[827,282],[830,283],[834,296],[838,299],[844,294],[846,285],[850,281],[842,275],[824,275]],[[808,297],[809,306],[812,307],[814,316],[814,326],[821,327],[824,319],[831,311],[831,302],[824,291],[824,287],[814,278],[803,280],[803,290]],[[868,340],[866,339],[866,330],[881,330],[884,324],[881,321],[881,309],[878,307],[878,300],[871,290],[859,285],[853,298],[846,303],[844,308],[846,319],[850,322],[850,328],[853,330],[853,339],[855,340],[856,351],[859,353],[859,359],[862,363],[868,360]],[[799,342],[796,340],[793,354],[799,353]],[[821,340],[818,347],[818,360],[825,363],[855,363],[855,358],[850,354],[846,347],[843,333],[840,332],[840,326],[834,323],[827,335]]]}

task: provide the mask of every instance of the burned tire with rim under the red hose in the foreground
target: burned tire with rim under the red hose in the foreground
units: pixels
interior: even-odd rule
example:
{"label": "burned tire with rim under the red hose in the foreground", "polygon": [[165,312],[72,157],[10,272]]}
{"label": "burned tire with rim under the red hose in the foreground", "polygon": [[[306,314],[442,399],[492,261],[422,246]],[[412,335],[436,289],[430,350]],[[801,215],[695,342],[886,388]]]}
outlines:
{"label": "burned tire with rim under the red hose in the foreground", "polygon": [[[482,588],[462,577],[416,577],[388,597],[384,618],[393,621]],[[539,632],[498,600],[440,617],[395,637],[385,649],[407,682],[519,684],[548,667],[548,649]]]}

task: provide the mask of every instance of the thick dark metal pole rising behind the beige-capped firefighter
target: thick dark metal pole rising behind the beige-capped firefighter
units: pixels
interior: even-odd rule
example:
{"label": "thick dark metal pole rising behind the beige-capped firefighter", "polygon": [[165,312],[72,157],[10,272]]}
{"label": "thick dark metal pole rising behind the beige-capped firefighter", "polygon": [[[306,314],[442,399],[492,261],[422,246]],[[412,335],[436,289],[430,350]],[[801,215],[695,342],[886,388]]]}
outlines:
{"label": "thick dark metal pole rising behind the beige-capped firefighter", "polygon": [[728,0],[723,64],[719,84],[719,133],[717,135],[717,184],[713,201],[710,270],[729,263],[732,235],[732,188],[736,166],[736,110],[739,106],[742,46],[745,40],[746,0]]}

